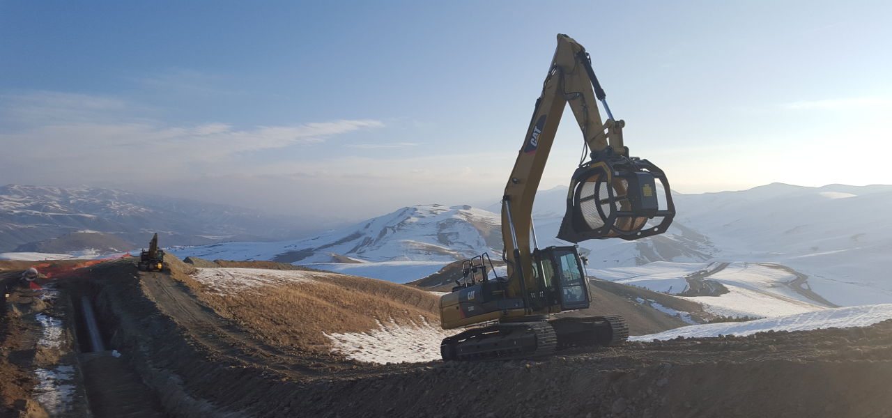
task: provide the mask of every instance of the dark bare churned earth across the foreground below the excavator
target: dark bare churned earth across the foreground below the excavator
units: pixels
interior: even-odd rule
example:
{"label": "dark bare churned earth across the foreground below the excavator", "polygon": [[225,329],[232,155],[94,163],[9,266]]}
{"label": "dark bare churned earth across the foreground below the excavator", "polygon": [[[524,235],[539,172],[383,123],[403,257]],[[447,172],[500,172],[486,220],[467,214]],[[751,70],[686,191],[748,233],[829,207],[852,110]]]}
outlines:
{"label": "dark bare churned earth across the foreground below the excavator", "polygon": [[[5,268],[15,275],[23,266]],[[45,307],[28,290],[13,291],[0,323],[4,414],[45,413],[36,402],[36,361],[25,354],[34,349],[32,318],[52,308],[69,318],[72,340],[58,356],[74,356],[85,378],[72,384],[84,388],[80,405],[97,417],[892,416],[892,322],[574,348],[525,361],[366,365],[262,340],[239,318],[202,304],[187,280],[137,272],[125,259],[62,283],[60,298]],[[85,351],[78,316],[69,314],[77,307],[66,295],[92,300],[103,339],[121,353],[113,370],[78,354]],[[101,383],[104,376],[137,382],[122,389]],[[121,414],[115,399],[132,398],[128,390],[142,392],[145,414]],[[86,412],[72,406],[60,416]]]}

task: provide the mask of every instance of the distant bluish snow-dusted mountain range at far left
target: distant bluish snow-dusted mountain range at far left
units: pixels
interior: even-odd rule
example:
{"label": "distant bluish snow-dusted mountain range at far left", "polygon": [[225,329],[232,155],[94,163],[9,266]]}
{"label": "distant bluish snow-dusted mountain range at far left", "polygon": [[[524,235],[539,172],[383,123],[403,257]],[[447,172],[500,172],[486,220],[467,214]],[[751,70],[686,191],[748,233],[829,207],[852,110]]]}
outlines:
{"label": "distant bluish snow-dusted mountain range at far left", "polygon": [[7,184],[0,187],[0,251],[88,230],[137,247],[157,232],[165,245],[269,241],[310,231],[292,217],[120,190]]}

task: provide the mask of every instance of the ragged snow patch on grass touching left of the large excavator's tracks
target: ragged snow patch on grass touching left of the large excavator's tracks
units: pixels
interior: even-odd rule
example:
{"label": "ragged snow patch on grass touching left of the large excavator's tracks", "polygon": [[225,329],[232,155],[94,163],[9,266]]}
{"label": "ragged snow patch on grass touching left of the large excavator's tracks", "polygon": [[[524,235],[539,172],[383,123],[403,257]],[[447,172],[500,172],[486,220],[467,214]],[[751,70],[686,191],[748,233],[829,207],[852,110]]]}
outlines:
{"label": "ragged snow patch on grass touching left of the large excavator's tracks", "polygon": [[378,321],[378,329],[369,332],[325,334],[335,353],[366,363],[420,363],[439,360],[440,342],[455,333],[431,325],[422,318],[422,325],[400,325],[392,320]]}

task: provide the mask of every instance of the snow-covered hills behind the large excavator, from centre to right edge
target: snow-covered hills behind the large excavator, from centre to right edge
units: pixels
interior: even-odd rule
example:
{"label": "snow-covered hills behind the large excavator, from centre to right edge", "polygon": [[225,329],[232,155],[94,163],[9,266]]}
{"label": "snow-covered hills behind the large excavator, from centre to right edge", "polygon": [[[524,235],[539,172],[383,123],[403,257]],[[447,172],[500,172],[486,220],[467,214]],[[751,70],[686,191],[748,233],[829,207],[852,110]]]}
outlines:
{"label": "snow-covered hills behind the large excavator, from centre to right edge", "polygon": [[[795,269],[807,277],[802,285],[838,305],[892,302],[885,266],[892,250],[892,223],[886,220],[892,186],[767,184],[739,192],[673,193],[673,198],[678,215],[665,234],[633,242],[581,242],[592,271],[657,261],[681,263],[691,271],[713,261],[774,263]],[[537,194],[533,218],[541,247],[566,245],[553,238],[565,205],[566,187]],[[486,209],[419,205],[309,239],[226,242],[173,252],[276,259],[404,283],[483,251],[499,258],[499,209],[498,203]],[[673,280],[684,282],[681,275]]]}

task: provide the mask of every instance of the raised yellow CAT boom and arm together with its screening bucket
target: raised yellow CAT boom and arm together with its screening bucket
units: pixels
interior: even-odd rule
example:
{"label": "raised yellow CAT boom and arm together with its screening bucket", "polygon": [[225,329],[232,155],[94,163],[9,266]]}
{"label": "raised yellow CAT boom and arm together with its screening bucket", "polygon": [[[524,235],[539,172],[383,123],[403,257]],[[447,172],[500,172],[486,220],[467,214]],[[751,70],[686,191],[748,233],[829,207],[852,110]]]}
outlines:
{"label": "raised yellow CAT boom and arm together with its screening bucket", "polygon": [[[611,117],[606,122],[601,120],[598,101]],[[589,54],[572,37],[558,35],[558,48],[503,196],[502,240],[506,247],[508,277],[512,283],[517,283],[516,289],[509,293],[527,295],[530,290],[541,287],[535,278],[534,264],[520,261],[533,259],[530,254],[533,201],[566,104],[573,110],[582,130],[582,139],[591,150],[592,160],[583,164],[574,175],[567,198],[567,214],[558,237],[571,242],[614,236],[638,239],[664,232],[672,222],[674,208],[665,175],[647,160],[629,158],[629,150],[623,143],[625,122],[612,119],[606,94],[591,67]],[[653,203],[657,201],[655,180],[663,183],[669,205],[662,211],[653,209],[656,206]],[[648,189],[650,193],[647,193]],[[611,193],[614,199],[610,199]],[[653,198],[653,202],[649,207],[641,208],[646,205],[641,205],[640,201],[648,198]],[[587,206],[599,207],[600,212],[610,211],[603,210],[605,208],[615,209],[615,217],[611,219],[609,214],[599,213],[596,208],[590,210],[595,213],[588,213],[586,219],[581,212],[591,209]],[[624,212],[628,216],[620,216]],[[643,229],[647,219],[655,216],[662,222],[650,230]],[[595,225],[590,225],[587,220]]]}

